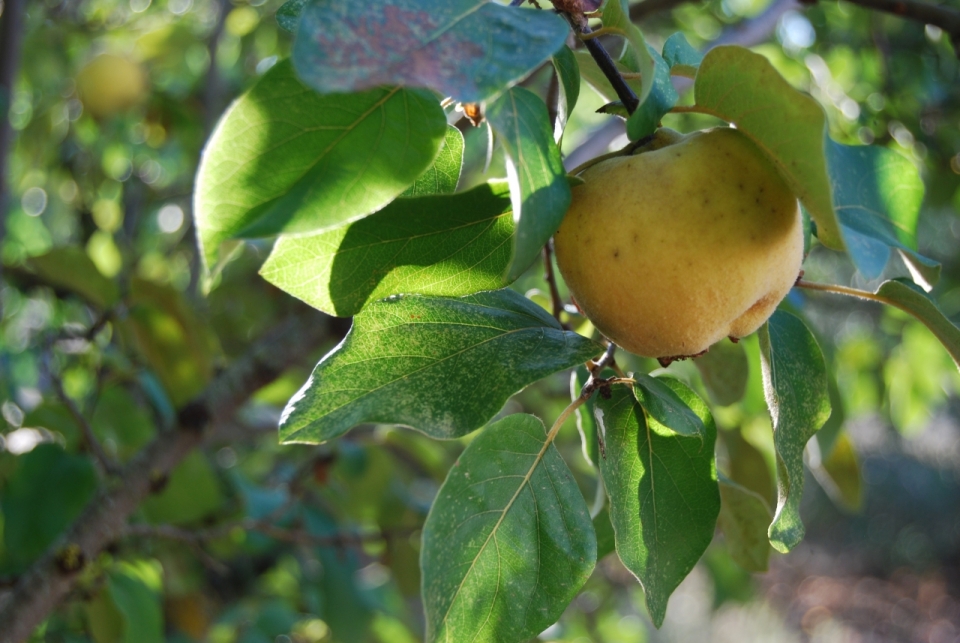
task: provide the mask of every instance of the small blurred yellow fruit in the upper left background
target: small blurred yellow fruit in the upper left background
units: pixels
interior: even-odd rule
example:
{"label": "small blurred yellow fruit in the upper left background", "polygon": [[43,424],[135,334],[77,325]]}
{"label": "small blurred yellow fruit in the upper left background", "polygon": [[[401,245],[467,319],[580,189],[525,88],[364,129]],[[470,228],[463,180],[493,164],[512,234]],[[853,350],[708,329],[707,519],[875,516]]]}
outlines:
{"label": "small blurred yellow fruit in the upper left background", "polygon": [[84,109],[104,118],[140,103],[147,94],[147,77],[135,62],[101,54],[77,74],[77,91]]}

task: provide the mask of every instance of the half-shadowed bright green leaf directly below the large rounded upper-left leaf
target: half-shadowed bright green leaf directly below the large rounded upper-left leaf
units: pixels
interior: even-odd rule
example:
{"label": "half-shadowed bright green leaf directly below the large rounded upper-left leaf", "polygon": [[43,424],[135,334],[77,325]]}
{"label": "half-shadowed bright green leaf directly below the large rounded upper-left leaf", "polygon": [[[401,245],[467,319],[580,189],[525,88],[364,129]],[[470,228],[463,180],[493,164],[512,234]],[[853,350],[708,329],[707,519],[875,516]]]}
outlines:
{"label": "half-shadowed bright green leaf directly below the large rounded upper-left leaf", "polygon": [[395,293],[456,296],[501,288],[511,261],[511,211],[505,181],[397,199],[336,230],[281,237],[260,274],[341,317]]}

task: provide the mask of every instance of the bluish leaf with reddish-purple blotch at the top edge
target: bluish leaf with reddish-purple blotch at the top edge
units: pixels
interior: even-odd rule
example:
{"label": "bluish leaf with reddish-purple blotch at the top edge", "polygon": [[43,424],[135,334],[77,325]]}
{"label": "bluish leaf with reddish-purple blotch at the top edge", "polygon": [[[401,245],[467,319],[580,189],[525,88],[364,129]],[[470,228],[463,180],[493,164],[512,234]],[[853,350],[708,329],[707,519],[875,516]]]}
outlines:
{"label": "bluish leaf with reddish-purple blotch at the top edge", "polygon": [[480,103],[549,59],[569,32],[553,12],[486,0],[313,0],[293,60],[322,93],[415,85]]}

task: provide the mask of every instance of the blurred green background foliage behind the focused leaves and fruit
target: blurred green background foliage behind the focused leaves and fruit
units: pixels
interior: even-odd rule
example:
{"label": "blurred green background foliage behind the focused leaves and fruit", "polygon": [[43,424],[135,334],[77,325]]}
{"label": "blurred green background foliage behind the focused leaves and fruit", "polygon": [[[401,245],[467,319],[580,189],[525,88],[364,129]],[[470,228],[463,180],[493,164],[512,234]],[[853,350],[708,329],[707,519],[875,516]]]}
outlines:
{"label": "blurred green background foliage behind the focused leaves and fruit", "polygon": [[[289,52],[279,4],[27,3],[2,245],[0,592],[110,484],[84,423],[106,460],[128,461],[214,373],[301,307],[257,276],[268,242],[240,247],[199,294],[191,228],[204,140],[229,101]],[[675,31],[700,48],[755,46],[820,101],[834,138],[915,162],[927,185],[919,249],[943,263],[933,294],[960,321],[960,82],[939,29],[832,0],[646,0],[633,10],[657,49]],[[550,74],[525,82],[545,95]],[[594,113],[602,104],[584,90],[563,142],[568,166],[625,142],[616,119]],[[457,124],[467,145],[461,188],[503,176],[487,129]],[[715,123],[681,114],[664,124]],[[816,281],[876,285],[821,246],[805,269]],[[885,277],[905,270],[895,260]],[[548,305],[541,273],[515,287]],[[808,453],[805,543],[758,575],[750,572],[766,556],[744,563],[718,534],[659,632],[640,588],[608,555],[541,640],[958,640],[960,375],[924,327],[893,309],[807,293],[788,304],[813,321],[833,377],[834,415]],[[92,561],[34,640],[419,640],[419,529],[470,438],[440,443],[380,426],[321,447],[279,446],[280,410],[322,353],[291,365],[244,405],[228,439],[206,443],[158,484],[128,537]],[[758,354],[750,338],[669,370],[713,402],[721,470],[769,504]],[[569,391],[566,376],[552,377],[504,412],[552,419]],[[582,424],[589,433],[588,416]],[[558,446],[594,498],[572,423]]]}

